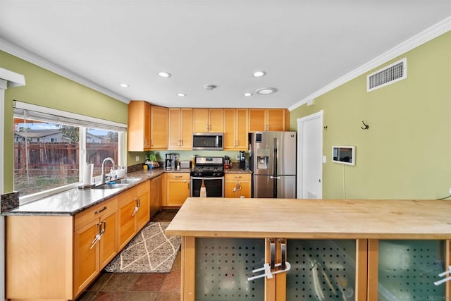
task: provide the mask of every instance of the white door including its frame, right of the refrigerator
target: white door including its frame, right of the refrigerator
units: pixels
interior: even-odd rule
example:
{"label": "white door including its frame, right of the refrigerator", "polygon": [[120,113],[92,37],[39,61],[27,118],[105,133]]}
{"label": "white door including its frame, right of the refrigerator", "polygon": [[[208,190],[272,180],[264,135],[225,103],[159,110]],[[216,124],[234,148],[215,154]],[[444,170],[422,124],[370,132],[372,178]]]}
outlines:
{"label": "white door including its frame, right of the refrigerator", "polygon": [[297,198],[323,198],[323,111],[297,119]]}

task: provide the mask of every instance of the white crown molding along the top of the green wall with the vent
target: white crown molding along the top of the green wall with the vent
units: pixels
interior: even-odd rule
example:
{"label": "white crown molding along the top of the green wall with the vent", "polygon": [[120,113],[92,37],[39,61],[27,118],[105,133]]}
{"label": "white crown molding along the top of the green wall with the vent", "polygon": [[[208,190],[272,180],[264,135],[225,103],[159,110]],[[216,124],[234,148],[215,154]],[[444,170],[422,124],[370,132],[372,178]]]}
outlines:
{"label": "white crown molding along the top of the green wall with the vent", "polygon": [[299,106],[311,102],[312,99],[315,99],[316,97],[319,97],[322,94],[325,94],[326,92],[335,89],[336,87],[340,87],[340,85],[345,84],[345,82],[349,82],[350,80],[353,80],[354,78],[357,78],[358,76],[369,72],[369,70],[381,66],[383,63],[386,63],[391,59],[395,59],[397,56],[405,54],[407,51],[412,50],[415,47],[419,47],[421,44],[424,44],[430,41],[431,39],[434,39],[435,37],[443,35],[445,32],[448,32],[450,30],[451,30],[451,17],[448,17],[440,21],[439,23],[431,27],[428,27],[428,29],[419,32],[418,35],[414,35],[414,37],[411,37],[410,39],[407,39],[401,44],[398,44],[396,47],[393,47],[392,49],[386,51],[380,56],[377,56],[375,59],[372,59],[371,61],[365,63],[359,68],[352,70],[350,73],[343,75],[341,78],[338,78],[338,80],[334,80],[333,82],[330,82],[330,84],[324,86],[320,90],[310,94],[307,97],[304,97],[303,99],[299,100],[299,102],[290,106],[288,110],[292,111],[294,109],[297,109]]}

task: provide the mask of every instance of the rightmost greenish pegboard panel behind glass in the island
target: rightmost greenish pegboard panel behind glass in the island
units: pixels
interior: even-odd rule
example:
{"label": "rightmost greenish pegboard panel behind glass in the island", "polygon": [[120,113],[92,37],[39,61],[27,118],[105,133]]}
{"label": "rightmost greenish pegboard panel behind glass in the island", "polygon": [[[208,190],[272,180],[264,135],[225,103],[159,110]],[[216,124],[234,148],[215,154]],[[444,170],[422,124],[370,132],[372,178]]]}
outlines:
{"label": "rightmost greenish pegboard panel behind glass in the island", "polygon": [[443,240],[379,240],[378,300],[445,300]]}

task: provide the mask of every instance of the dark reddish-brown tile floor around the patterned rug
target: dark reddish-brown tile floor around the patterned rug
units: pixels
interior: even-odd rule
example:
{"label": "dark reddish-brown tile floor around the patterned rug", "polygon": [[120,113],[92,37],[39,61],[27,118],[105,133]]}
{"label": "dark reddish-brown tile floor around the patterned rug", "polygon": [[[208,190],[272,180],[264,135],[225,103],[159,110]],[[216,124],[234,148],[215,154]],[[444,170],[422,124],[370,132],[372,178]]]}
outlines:
{"label": "dark reddish-brown tile floor around the patterned rug", "polygon": [[[163,209],[152,221],[171,221],[177,209]],[[99,274],[78,301],[180,301],[180,251],[167,274]]]}

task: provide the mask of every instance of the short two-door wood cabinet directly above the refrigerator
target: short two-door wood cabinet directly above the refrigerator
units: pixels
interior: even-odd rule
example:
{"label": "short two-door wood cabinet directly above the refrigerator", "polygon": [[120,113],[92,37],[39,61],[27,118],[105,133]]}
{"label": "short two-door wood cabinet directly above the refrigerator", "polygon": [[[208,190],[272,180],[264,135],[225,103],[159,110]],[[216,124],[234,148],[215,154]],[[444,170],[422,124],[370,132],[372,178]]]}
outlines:
{"label": "short two-door wood cabinet directly above the refrigerator", "polygon": [[290,115],[287,109],[249,109],[249,132],[289,128]]}

